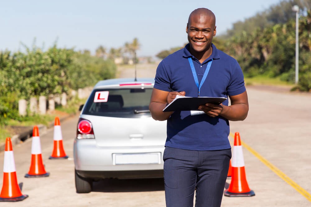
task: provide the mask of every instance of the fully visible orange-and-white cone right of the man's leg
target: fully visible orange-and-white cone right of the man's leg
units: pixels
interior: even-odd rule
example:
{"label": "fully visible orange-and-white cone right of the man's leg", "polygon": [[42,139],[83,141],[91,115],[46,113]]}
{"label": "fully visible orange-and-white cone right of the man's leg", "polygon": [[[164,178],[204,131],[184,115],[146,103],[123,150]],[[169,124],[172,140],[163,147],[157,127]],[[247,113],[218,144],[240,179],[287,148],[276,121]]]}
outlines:
{"label": "fully visible orange-and-white cone right of the man's leg", "polygon": [[238,132],[234,135],[231,183],[224,195],[229,197],[255,196],[246,181],[241,138]]}

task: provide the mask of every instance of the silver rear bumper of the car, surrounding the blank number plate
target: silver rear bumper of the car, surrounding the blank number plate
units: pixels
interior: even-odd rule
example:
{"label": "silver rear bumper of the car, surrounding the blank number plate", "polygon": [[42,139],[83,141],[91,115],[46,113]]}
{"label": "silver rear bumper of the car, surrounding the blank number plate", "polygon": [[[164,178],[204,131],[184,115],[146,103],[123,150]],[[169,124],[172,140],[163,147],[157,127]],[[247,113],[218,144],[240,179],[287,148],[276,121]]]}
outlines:
{"label": "silver rear bumper of the car, surrounding the blank number plate", "polygon": [[[75,169],[86,178],[159,178],[163,177],[164,146],[99,147],[95,139],[74,141]],[[159,153],[155,164],[115,164],[113,154]]]}

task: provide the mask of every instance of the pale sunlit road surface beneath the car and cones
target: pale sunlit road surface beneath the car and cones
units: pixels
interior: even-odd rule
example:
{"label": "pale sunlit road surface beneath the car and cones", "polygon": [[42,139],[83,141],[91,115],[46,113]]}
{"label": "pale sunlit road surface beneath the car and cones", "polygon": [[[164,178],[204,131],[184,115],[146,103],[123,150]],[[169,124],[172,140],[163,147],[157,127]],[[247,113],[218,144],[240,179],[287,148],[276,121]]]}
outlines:
{"label": "pale sunlit road surface beneath the car and cones", "polygon": [[[132,74],[126,70],[126,76]],[[154,68],[141,67],[138,77],[152,77]],[[120,77],[122,76],[120,73]],[[145,74],[145,75],[142,75]],[[244,142],[246,178],[253,197],[224,197],[222,206],[262,207],[311,206],[311,102],[310,93],[290,93],[271,87],[247,87],[247,119],[230,122],[231,133],[239,132]],[[49,160],[53,149],[53,128],[40,133],[43,162],[49,177],[24,178],[30,167],[31,139],[13,146],[17,180],[22,193],[29,195],[16,203],[0,206],[165,206],[163,179],[114,180],[94,183],[88,194],[77,194],[72,155],[78,117],[61,123],[68,160]],[[233,138],[230,137],[230,141]],[[4,153],[0,152],[3,172]],[[2,186],[0,175],[0,186]],[[228,187],[230,179],[227,180]]]}

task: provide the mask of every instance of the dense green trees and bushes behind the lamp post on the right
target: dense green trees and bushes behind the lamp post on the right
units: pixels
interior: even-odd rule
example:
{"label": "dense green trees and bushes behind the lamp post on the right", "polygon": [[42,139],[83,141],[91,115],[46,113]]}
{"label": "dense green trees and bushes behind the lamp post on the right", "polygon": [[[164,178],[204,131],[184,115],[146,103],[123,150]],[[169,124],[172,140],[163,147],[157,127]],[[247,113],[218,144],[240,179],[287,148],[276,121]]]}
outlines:
{"label": "dense green trees and bushes behind the lamp post on the right", "polygon": [[[299,17],[299,82],[295,90],[311,89],[311,10]],[[286,23],[242,31],[225,43],[225,52],[234,56],[245,77],[265,75],[295,82],[295,19]]]}

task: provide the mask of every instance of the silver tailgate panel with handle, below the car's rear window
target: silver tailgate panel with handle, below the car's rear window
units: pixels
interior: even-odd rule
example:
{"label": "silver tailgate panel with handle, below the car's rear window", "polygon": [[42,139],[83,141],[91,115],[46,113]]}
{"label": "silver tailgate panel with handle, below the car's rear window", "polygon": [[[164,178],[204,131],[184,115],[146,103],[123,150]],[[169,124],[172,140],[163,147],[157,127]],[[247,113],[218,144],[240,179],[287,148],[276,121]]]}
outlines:
{"label": "silver tailgate panel with handle, below the car's rear window", "polygon": [[166,140],[166,121],[152,117],[115,118],[83,115],[91,121],[98,146],[161,146]]}

